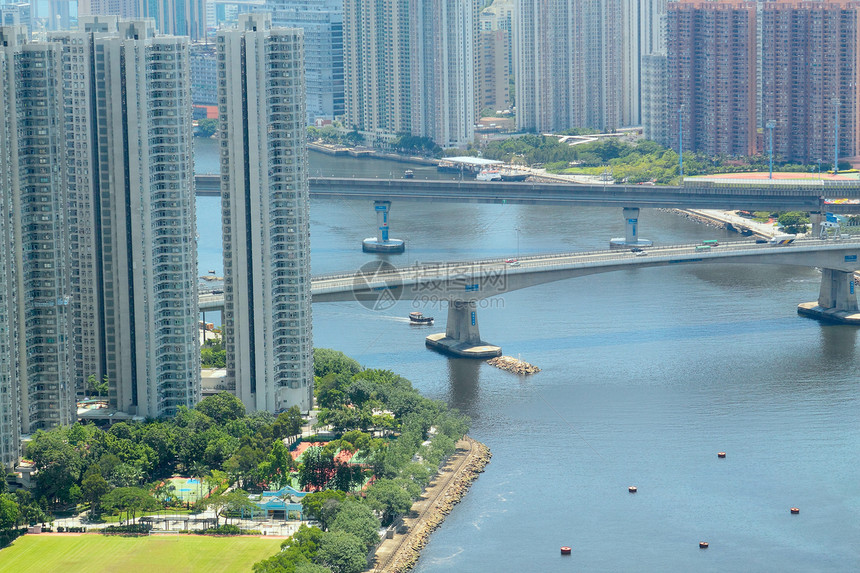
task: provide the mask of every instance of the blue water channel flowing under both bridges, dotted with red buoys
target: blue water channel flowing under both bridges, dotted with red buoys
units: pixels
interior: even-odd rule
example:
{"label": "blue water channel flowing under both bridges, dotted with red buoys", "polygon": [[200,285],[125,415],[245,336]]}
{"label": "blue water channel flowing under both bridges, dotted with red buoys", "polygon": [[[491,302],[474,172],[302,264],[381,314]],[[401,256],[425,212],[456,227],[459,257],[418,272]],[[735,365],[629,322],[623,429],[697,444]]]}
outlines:
{"label": "blue water channel flowing under both bridges, dotted with red buoys", "polygon": [[[321,174],[403,167],[311,162]],[[220,271],[218,199],[197,205],[200,268]],[[658,244],[740,239],[656,210],[640,223]],[[403,202],[391,226],[407,241],[387,257],[395,265],[600,249],[623,235],[617,208]],[[369,201],[313,200],[313,272],[374,259],[360,247],[373,233]],[[445,323],[432,301],[315,304],[314,343],[461,409],[493,452],[418,572],[856,571],[857,329],[797,315],[819,279],[787,266],[652,268],[486,301],[483,338],[543,369],[529,377],[425,349]],[[436,326],[411,326],[412,310]]]}

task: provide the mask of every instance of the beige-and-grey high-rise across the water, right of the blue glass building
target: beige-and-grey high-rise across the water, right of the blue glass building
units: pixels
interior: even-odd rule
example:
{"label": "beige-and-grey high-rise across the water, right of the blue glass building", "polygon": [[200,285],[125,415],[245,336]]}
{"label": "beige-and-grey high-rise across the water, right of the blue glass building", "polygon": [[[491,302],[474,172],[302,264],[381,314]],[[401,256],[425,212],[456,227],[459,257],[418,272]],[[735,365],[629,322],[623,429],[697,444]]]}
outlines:
{"label": "beige-and-grey high-rise across the water, right of the blue glass building", "polygon": [[372,143],[474,137],[477,0],[346,0],[345,123]]}

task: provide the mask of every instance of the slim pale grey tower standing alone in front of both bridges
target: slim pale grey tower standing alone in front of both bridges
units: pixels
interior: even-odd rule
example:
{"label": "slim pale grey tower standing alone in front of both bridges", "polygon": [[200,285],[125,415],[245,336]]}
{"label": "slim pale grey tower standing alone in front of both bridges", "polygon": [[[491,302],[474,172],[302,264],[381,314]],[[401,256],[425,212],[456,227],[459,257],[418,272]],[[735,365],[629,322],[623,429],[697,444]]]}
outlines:
{"label": "slim pale grey tower standing alone in front of both bridges", "polygon": [[227,380],[249,410],[311,407],[302,31],[242,14],[218,32]]}

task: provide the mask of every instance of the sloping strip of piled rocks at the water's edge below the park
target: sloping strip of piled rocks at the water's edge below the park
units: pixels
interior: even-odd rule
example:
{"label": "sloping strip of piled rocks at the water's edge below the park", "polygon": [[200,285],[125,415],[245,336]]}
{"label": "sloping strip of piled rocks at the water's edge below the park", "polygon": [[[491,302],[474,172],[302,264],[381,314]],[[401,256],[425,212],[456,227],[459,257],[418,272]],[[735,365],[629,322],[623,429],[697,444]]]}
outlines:
{"label": "sloping strip of piled rocks at the water's edge below the park", "polygon": [[[469,491],[472,482],[478,479],[478,476],[484,471],[484,467],[490,463],[490,458],[493,456],[490,448],[468,436],[464,436],[463,439],[472,444],[471,451],[465,454],[468,456],[465,464],[459,470],[456,470],[444,491],[433,505],[427,509],[423,518],[410,527],[409,534],[411,535],[411,539],[400,547],[398,553],[391,560],[390,566],[385,571],[403,573],[415,566],[415,563],[418,562],[418,558],[421,556],[421,550],[430,540],[430,534],[442,525],[445,517],[451,513],[454,506]],[[442,474],[440,473],[437,479],[441,476]],[[382,571],[382,569],[379,569],[379,571]]]}

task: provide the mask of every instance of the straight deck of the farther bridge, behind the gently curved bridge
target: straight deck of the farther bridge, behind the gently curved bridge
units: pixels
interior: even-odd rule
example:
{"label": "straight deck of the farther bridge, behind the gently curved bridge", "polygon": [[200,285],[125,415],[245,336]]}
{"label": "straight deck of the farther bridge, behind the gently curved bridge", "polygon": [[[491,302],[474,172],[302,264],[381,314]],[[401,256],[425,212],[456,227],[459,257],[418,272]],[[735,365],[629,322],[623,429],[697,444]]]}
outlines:
{"label": "straight deck of the farther bridge, behind the gently curved bridge", "polygon": [[[198,195],[221,193],[218,175],[195,176]],[[312,197],[454,203],[511,203],[597,207],[662,207],[744,211],[860,213],[860,181],[702,180],[682,186],[586,185],[465,179],[310,177]],[[832,204],[827,199],[857,200]]]}

